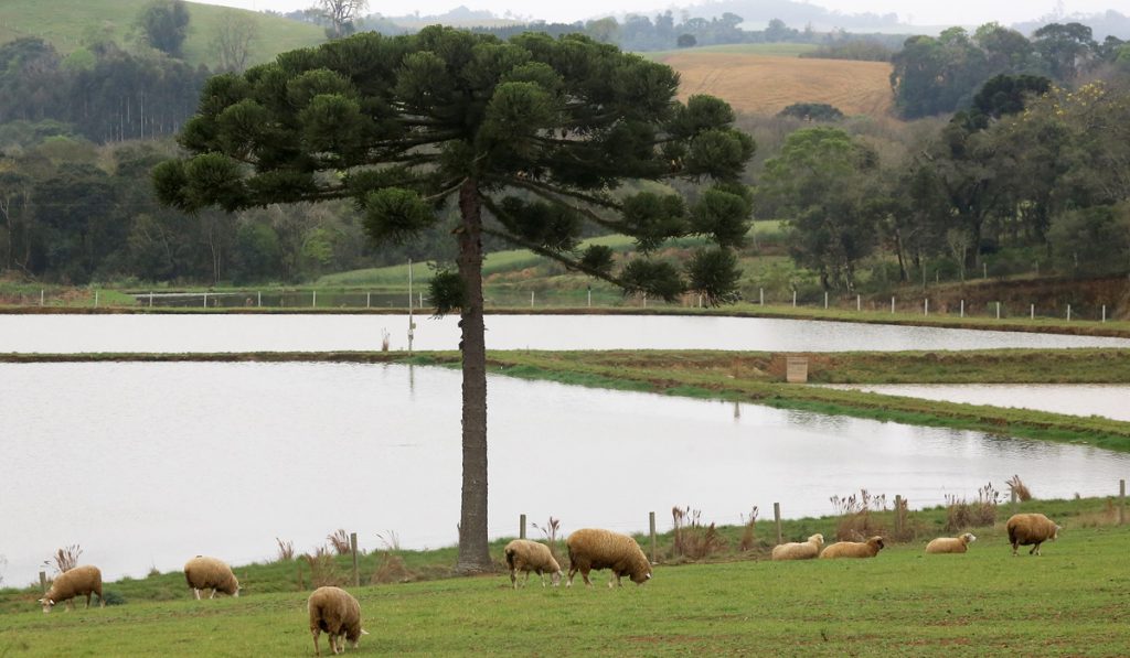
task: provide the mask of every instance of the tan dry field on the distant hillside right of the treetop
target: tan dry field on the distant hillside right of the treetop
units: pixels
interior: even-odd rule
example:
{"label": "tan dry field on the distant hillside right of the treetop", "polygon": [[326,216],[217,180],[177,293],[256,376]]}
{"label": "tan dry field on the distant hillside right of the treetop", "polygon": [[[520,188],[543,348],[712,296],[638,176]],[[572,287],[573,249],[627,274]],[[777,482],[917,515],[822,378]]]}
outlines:
{"label": "tan dry field on the distant hillside right of the treetop", "polygon": [[711,94],[734,109],[776,114],[793,103],[827,103],[844,114],[887,116],[890,64],[742,53],[688,52],[662,59],[679,72],[679,97]]}

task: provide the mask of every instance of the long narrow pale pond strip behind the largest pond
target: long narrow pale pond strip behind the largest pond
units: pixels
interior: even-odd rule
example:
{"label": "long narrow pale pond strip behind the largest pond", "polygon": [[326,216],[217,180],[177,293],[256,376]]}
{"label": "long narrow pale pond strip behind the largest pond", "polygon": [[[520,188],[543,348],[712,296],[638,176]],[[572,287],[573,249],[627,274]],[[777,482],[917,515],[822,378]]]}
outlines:
{"label": "long narrow pale pond strip behind the largest pond", "polygon": [[[459,318],[416,316],[414,348],[454,350]],[[490,315],[494,350],[980,350],[1130,348],[1130,339],[799,319]],[[245,352],[408,348],[407,315],[0,315],[2,352]]]}

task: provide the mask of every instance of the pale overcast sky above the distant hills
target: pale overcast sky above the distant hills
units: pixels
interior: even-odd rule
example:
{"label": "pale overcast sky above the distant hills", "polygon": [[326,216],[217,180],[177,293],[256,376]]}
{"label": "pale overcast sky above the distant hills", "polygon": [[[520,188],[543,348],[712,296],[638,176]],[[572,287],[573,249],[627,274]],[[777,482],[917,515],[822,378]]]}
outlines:
{"label": "pale overcast sky above the distant hills", "polygon": [[[223,5],[262,11],[294,11],[314,3],[314,0],[193,0],[207,5]],[[685,0],[681,6],[699,0]],[[817,0],[810,5],[844,14],[898,14],[903,23],[914,25],[981,25],[991,20],[1002,24],[1032,20],[1062,7],[1066,14],[1093,14],[1106,9],[1130,12],[1130,0]],[[421,16],[444,14],[466,5],[471,9],[487,9],[498,16],[507,10],[516,16],[571,23],[608,14],[642,11],[651,14],[672,7],[670,0],[572,0],[570,2],[531,3],[528,0],[415,0],[382,2],[370,0],[370,11],[389,16],[403,16],[419,11]]]}

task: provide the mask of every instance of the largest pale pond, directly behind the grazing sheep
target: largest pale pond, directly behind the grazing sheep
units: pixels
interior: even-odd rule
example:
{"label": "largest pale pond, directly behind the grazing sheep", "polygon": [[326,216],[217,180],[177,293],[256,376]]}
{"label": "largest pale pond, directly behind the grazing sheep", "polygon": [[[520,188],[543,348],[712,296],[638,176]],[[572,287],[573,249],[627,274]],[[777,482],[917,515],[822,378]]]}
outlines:
{"label": "largest pale pond, directly behind the grazing sheep", "polygon": [[[337,528],[365,550],[457,541],[460,374],[344,363],[0,365],[0,567],[25,586],[78,544],[107,579],[212,554],[272,559]],[[912,508],[1014,474],[1037,497],[1115,492],[1130,456],[654,394],[489,379],[489,533],[645,530],[832,514],[866,488]],[[530,530],[532,536],[538,532]],[[0,563],[2,564],[2,563]]]}

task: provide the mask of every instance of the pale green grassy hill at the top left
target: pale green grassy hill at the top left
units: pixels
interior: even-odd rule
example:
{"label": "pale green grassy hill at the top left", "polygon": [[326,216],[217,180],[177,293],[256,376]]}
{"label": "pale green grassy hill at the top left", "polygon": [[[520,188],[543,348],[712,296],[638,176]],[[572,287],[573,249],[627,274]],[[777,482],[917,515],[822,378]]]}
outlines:
{"label": "pale green grassy hill at the top left", "polygon": [[[127,43],[134,20],[148,3],[148,0],[3,0],[0,2],[0,44],[35,36],[66,55],[81,47],[86,37],[93,34]],[[217,27],[233,14],[250,16],[259,27],[259,38],[251,46],[252,63],[325,41],[321,27],[306,23],[212,5],[189,2],[188,7],[190,23],[184,59],[192,65],[215,68],[218,59],[210,42]]]}

